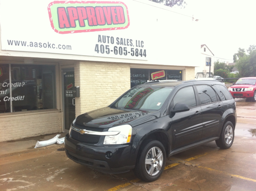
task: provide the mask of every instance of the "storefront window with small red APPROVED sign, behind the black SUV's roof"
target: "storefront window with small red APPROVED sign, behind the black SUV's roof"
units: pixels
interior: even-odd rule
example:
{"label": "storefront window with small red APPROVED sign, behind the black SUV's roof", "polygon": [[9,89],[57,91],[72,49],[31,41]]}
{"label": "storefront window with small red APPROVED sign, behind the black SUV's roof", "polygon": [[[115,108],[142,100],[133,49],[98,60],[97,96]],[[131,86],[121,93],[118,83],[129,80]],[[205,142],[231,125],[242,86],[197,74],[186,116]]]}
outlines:
{"label": "storefront window with small red APPROVED sign, behind the black SUV's roof", "polygon": [[131,88],[152,80],[182,80],[182,70],[131,68],[130,72]]}

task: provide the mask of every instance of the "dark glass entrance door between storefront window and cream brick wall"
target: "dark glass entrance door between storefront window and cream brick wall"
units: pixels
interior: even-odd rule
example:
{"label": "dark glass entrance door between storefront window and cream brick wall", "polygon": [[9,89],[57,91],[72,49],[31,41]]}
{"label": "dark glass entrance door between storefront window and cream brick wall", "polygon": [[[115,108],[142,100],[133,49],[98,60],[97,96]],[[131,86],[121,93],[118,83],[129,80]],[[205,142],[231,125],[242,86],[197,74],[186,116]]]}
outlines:
{"label": "dark glass entrance door between storefront window and cream brick wall", "polygon": [[75,86],[74,69],[62,70],[62,84],[64,131],[68,132],[72,121],[76,118],[75,95],[73,93]]}

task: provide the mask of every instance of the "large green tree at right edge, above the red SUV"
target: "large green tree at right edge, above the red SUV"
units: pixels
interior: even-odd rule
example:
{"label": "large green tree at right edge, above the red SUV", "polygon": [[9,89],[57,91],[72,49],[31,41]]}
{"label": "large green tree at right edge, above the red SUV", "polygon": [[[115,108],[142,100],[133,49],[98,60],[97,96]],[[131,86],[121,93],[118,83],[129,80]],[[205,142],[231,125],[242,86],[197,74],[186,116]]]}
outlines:
{"label": "large green tree at right edge, above the red SUV", "polygon": [[[238,53],[240,49],[238,50]],[[236,54],[238,54],[236,53]],[[236,61],[236,68],[239,71],[241,77],[252,77],[256,76],[256,46],[250,45],[247,50],[247,54],[244,51],[244,54],[237,56],[238,60]]]}

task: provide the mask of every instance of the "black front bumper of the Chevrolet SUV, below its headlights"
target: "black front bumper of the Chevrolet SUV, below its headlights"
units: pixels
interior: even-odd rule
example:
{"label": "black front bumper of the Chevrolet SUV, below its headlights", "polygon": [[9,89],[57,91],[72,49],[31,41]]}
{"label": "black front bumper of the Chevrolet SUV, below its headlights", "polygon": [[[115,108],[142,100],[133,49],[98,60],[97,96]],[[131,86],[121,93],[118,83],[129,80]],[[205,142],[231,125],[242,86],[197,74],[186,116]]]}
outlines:
{"label": "black front bumper of the Chevrolet SUV, below its headlights", "polygon": [[[76,163],[86,165],[103,173],[123,173],[135,167],[136,143],[125,145],[95,145],[81,143],[65,137],[66,155]],[[109,153],[112,153],[109,157]]]}

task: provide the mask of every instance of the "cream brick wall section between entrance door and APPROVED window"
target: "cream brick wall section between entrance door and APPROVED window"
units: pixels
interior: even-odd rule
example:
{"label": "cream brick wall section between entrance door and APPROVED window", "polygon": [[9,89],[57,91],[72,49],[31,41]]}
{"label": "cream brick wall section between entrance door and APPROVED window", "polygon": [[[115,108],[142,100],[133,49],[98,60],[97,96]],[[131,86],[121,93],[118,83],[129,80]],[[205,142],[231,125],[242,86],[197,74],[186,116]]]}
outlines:
{"label": "cream brick wall section between entrance door and APPROVED window", "polygon": [[108,106],[130,89],[130,64],[80,62],[75,66],[76,117],[82,113]]}

